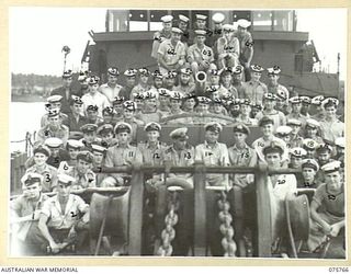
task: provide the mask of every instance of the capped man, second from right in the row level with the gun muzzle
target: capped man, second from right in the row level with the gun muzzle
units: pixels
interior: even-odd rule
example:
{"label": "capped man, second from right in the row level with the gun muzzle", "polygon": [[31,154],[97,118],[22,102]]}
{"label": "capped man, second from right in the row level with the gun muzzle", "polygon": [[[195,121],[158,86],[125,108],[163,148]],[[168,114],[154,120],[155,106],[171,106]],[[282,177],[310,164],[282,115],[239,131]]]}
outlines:
{"label": "capped man, second from right in the row level with the gun muzzle", "polygon": [[261,82],[261,76],[264,68],[260,65],[250,66],[250,81],[244,83],[244,98],[249,98],[254,104],[262,104],[264,93],[268,93],[265,83]]}

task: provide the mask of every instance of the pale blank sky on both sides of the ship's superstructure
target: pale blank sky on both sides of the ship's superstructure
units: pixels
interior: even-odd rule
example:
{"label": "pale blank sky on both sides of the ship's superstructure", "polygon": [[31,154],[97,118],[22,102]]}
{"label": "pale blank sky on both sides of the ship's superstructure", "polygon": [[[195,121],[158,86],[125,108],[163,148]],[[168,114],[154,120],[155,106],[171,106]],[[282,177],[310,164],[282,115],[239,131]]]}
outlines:
{"label": "pale blank sky on both sides of the ship's superstructure", "polygon": [[[67,68],[79,70],[88,32],[105,31],[105,8],[10,8],[10,71],[60,76],[63,46],[71,52]],[[324,68],[337,72],[341,55],[340,78],[346,79],[347,10],[297,10],[297,31],[309,32]],[[331,20],[332,19],[332,20]]]}

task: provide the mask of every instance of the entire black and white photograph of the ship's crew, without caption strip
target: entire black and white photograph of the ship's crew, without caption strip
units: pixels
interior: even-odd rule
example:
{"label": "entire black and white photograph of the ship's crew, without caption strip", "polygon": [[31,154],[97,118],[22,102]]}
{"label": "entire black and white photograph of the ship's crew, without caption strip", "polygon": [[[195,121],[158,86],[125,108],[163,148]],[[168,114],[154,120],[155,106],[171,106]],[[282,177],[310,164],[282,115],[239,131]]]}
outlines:
{"label": "entire black and white photograph of the ship's crew, without caption strip", "polygon": [[347,260],[347,13],[10,7],[8,256]]}

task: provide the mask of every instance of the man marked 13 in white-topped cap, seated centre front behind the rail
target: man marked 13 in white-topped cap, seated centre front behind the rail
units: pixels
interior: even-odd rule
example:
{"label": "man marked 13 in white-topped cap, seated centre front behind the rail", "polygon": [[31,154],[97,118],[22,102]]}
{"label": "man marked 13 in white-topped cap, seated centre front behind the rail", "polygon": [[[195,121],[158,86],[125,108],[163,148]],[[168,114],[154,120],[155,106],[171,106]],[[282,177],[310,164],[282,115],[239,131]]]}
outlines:
{"label": "man marked 13 in white-topped cap, seated centre front behind the rail", "polygon": [[[176,128],[169,134],[172,145],[165,150],[165,163],[173,167],[189,167],[194,163],[195,150],[194,147],[188,142],[189,135],[186,127]],[[180,180],[188,184],[193,184],[191,173],[170,173],[168,181]]]}

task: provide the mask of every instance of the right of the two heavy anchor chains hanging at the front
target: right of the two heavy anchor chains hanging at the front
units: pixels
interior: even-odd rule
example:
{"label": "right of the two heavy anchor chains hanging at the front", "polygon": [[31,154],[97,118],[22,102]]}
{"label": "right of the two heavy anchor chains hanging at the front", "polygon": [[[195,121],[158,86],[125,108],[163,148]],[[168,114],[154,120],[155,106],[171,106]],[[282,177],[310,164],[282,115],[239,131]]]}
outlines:
{"label": "right of the two heavy anchor chains hanging at the front", "polygon": [[233,240],[233,217],[229,213],[230,204],[227,201],[227,194],[225,191],[220,192],[220,198],[217,201],[217,205],[219,208],[218,219],[220,220],[219,230],[223,236],[220,243],[224,249],[224,256],[236,256],[235,252],[237,251],[237,244]]}

